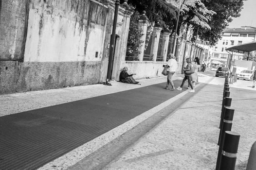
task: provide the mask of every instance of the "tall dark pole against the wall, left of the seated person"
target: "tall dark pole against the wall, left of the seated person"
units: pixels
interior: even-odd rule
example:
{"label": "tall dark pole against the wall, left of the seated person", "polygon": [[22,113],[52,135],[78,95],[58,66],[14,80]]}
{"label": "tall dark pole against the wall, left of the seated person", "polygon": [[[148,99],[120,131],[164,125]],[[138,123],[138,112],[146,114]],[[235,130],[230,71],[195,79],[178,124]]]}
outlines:
{"label": "tall dark pole against the wall, left of the seated person", "polygon": [[115,30],[116,30],[119,5],[120,5],[120,0],[116,0],[115,1],[115,12],[114,12],[112,34],[111,34],[111,38],[110,38],[110,56],[109,56],[107,79],[106,79],[106,83],[104,83],[103,85],[111,85],[110,84],[110,76],[111,76],[111,70],[112,70],[112,60],[113,60],[114,44],[115,44]]}

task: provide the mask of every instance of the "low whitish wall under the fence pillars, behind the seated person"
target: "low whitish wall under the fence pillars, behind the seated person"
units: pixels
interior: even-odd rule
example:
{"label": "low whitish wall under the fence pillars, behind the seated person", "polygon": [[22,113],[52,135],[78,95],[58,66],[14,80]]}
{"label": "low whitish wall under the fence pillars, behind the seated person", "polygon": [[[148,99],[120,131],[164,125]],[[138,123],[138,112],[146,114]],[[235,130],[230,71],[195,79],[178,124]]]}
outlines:
{"label": "low whitish wall under the fence pillars, behind the seated person", "polygon": [[133,77],[141,79],[145,77],[155,77],[163,75],[163,65],[167,62],[153,62],[153,61],[126,61],[122,64],[122,68],[127,67],[128,73],[136,73]]}

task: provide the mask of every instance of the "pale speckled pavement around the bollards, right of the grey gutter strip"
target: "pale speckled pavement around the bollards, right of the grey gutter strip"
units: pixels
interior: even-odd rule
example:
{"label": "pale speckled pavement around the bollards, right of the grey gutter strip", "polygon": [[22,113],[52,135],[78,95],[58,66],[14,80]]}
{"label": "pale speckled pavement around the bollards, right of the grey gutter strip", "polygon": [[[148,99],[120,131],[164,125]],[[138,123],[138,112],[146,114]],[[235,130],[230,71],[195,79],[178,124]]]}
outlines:
{"label": "pale speckled pavement around the bollards, right of the grey gutter strip", "polygon": [[[223,86],[206,85],[104,170],[215,170]],[[231,88],[232,131],[240,134],[237,168],[256,141],[256,91]]]}

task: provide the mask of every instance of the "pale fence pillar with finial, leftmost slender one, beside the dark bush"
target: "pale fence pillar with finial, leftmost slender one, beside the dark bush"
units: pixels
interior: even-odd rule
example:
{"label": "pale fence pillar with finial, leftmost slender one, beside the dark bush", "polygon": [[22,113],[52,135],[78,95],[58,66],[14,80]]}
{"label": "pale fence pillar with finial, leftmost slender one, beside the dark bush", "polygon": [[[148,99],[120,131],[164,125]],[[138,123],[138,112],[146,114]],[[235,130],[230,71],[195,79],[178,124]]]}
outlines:
{"label": "pale fence pillar with finial, leftmost slender one, beside the dark bush", "polygon": [[140,53],[138,54],[138,59],[139,61],[143,61],[143,56],[144,56],[144,49],[145,49],[145,42],[146,42],[146,30],[147,30],[147,25],[148,25],[148,19],[146,17],[146,11],[142,12],[143,14],[139,18],[139,23],[138,23],[138,28],[139,31],[143,34],[139,40],[142,41],[139,47]]}

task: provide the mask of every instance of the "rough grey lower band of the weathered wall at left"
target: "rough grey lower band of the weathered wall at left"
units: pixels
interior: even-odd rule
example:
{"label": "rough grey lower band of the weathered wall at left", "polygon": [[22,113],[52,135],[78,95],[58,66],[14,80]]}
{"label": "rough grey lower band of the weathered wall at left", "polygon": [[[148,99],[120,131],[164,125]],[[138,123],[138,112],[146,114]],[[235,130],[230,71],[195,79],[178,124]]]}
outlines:
{"label": "rough grey lower band of the weathered wall at left", "polygon": [[0,94],[98,83],[101,62],[0,62]]}

